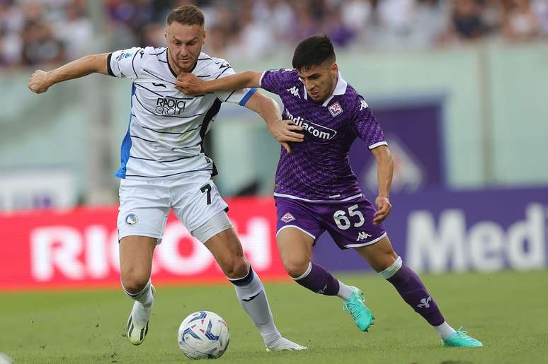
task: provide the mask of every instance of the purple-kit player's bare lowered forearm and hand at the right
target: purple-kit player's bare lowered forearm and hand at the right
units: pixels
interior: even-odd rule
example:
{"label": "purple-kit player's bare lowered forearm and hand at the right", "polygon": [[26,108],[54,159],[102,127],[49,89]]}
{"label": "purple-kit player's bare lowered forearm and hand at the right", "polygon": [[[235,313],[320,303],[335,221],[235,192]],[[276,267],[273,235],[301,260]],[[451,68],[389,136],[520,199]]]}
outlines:
{"label": "purple-kit player's bare lowered forearm and hand at the right", "polygon": [[378,210],[373,216],[373,223],[377,225],[382,223],[392,210],[389,195],[392,175],[394,174],[394,160],[392,160],[392,154],[390,154],[388,146],[377,146],[377,148],[371,150],[371,153],[375,155],[377,160],[377,180],[379,182],[379,195],[375,199]]}

